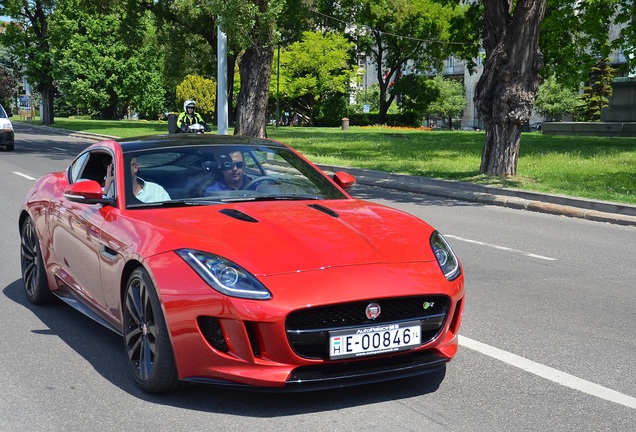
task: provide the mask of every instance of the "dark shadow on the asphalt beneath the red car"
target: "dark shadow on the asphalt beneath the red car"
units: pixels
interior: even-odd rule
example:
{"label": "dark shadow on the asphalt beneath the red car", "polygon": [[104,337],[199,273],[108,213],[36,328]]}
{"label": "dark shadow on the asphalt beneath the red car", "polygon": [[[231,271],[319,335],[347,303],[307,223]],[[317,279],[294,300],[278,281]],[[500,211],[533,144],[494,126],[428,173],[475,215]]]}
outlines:
{"label": "dark shadow on the asphalt beneath the red car", "polygon": [[[443,367],[415,378],[308,393],[271,393],[191,385],[178,392],[151,395],[134,384],[126,364],[121,336],[62,301],[47,306],[32,305],[24,294],[22,280],[11,283],[2,292],[9,300],[31,311],[48,327],[48,330],[33,330],[34,332],[59,337],[89,362],[104,379],[150,404],[245,417],[284,417],[434,393],[446,374],[446,368]],[[51,369],[59,367],[57,364],[51,365]]]}

